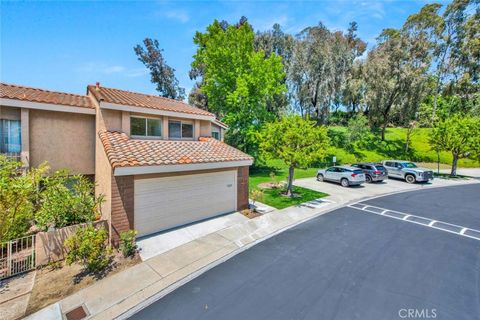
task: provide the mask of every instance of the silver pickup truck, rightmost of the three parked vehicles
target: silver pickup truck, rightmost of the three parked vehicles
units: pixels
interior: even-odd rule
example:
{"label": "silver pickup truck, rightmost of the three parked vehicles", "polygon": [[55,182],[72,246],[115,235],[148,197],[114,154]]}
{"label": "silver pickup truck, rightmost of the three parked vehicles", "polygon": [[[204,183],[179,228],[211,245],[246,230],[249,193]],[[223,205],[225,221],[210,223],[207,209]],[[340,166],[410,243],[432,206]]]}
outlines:
{"label": "silver pickup truck, rightmost of the three parked vehicles", "polygon": [[404,160],[385,160],[382,162],[388,171],[389,178],[403,179],[408,183],[428,182],[433,180],[433,171],[430,169],[419,168],[410,161]]}

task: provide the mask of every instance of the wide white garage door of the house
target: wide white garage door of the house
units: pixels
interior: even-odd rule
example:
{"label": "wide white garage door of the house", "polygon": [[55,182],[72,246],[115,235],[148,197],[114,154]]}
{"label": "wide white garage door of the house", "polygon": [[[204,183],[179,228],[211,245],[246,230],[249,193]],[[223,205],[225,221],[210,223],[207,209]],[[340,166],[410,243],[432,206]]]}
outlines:
{"label": "wide white garage door of the house", "polygon": [[237,172],[135,179],[138,236],[235,211]]}

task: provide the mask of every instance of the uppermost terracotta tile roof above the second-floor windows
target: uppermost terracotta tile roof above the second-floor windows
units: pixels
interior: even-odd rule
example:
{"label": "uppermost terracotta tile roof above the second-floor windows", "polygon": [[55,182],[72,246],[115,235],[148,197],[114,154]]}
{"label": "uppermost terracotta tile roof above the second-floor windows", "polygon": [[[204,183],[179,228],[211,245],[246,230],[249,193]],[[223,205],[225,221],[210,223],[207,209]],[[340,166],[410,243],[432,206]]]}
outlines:
{"label": "uppermost terracotta tile roof above the second-floor windows", "polygon": [[105,88],[102,86],[97,87],[95,85],[89,85],[88,91],[90,91],[98,101],[105,101],[133,107],[189,113],[194,115],[214,116],[208,111],[192,107],[183,101],[159,96]]}

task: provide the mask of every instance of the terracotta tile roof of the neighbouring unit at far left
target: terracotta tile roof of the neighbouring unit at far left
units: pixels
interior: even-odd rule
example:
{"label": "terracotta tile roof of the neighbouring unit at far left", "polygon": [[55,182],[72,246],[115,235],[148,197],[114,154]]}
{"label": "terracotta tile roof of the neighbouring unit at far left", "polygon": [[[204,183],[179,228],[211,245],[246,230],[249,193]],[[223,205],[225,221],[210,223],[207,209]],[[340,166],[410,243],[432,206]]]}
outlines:
{"label": "terracotta tile roof of the neighbouring unit at far left", "polygon": [[64,106],[94,109],[92,101],[87,96],[78,94],[48,91],[43,89],[0,83],[0,97],[40,103],[51,103]]}

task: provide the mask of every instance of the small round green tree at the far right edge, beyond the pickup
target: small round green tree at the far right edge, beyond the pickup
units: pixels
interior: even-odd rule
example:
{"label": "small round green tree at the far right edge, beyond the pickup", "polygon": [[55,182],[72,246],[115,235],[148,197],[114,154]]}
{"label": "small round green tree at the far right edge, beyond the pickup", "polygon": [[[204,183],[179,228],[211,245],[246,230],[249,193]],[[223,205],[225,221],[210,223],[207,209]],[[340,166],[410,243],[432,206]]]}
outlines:
{"label": "small round green tree at the far right edge, beyond the pickup", "polygon": [[430,144],[435,150],[451,152],[450,176],[456,176],[459,159],[480,153],[480,118],[454,115],[439,122],[432,129]]}

